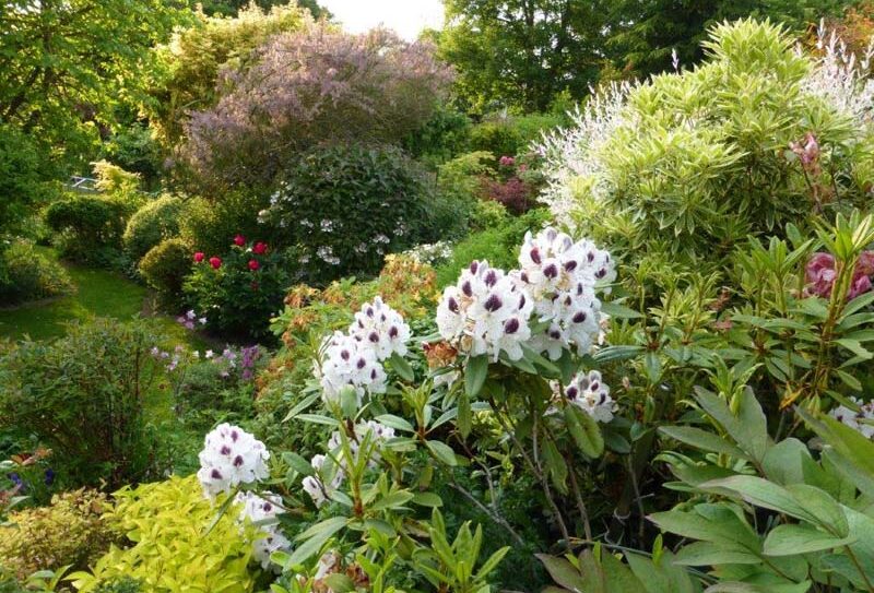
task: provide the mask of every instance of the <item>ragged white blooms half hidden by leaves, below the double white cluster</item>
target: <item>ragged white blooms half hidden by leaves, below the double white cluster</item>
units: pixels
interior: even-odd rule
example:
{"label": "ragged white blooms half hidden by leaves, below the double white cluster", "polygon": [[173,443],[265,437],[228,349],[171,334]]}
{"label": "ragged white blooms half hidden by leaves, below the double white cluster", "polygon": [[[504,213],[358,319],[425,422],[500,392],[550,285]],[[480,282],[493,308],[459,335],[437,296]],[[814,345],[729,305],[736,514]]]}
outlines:
{"label": "ragged white blooms half hidden by leaves, below the double white cluster", "polygon": [[367,420],[355,425],[354,435],[349,438],[349,448],[352,459],[345,459],[340,432],[334,431],[328,441],[329,455],[315,455],[310,465],[316,471],[315,476],[306,476],[303,481],[304,491],[309,495],[316,507],[321,507],[345,479],[350,463],[354,463],[365,439],[374,447],[368,465],[370,467],[381,459],[379,444],[394,438],[394,429],[376,420]]}

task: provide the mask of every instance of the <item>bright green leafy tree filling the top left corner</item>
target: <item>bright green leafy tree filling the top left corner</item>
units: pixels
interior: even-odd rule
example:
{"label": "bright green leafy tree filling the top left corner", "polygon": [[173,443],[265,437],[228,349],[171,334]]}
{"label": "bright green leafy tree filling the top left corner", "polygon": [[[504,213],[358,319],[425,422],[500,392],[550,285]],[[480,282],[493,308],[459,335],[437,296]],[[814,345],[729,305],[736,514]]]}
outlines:
{"label": "bright green leafy tree filling the top left corner", "polygon": [[116,107],[143,91],[151,48],[185,7],[166,0],[3,0],[0,123],[51,146],[85,152]]}

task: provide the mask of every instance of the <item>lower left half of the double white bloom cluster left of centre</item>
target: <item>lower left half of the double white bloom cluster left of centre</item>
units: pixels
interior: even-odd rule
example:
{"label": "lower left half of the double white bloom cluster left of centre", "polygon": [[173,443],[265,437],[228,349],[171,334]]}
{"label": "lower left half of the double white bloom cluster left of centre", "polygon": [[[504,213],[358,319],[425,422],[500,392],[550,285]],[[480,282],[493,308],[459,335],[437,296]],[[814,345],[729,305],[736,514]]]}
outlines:
{"label": "lower left half of the double white bloom cluster left of centre", "polygon": [[347,386],[355,390],[358,404],[366,391],[386,392],[386,370],[368,344],[342,332],[335,332],[326,340],[324,361],[321,368],[318,365],[315,368],[326,402],[336,402],[340,392]]}

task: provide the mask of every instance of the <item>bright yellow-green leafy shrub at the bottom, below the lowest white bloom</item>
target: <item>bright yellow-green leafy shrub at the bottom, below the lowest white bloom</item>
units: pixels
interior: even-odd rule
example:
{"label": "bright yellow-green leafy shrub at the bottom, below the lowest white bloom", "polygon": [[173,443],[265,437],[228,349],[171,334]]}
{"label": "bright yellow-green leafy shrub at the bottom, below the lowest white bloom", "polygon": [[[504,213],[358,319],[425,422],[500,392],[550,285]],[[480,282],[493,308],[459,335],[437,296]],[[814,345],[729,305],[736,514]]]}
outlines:
{"label": "bright yellow-green leafy shrub at the bottom, below the lowest white bloom", "polygon": [[255,586],[248,564],[251,526],[237,523],[237,512],[225,512],[206,534],[218,512],[203,498],[196,476],[174,476],[115,494],[106,518],[122,531],[130,546],[111,546],[92,572],[72,574],[79,591],[96,591],[102,583],[129,577],[153,593],[246,593]]}

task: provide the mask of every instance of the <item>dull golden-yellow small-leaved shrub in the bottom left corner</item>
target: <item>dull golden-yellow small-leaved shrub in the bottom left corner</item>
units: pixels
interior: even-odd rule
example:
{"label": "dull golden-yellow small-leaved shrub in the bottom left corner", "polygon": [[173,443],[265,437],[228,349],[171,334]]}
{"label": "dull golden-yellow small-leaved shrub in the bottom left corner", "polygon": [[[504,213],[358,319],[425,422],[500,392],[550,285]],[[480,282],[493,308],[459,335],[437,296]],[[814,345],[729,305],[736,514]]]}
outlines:
{"label": "dull golden-yellow small-leaved shrub in the bottom left corner", "polygon": [[0,526],[0,566],[19,579],[67,565],[85,568],[117,537],[106,508],[104,495],[81,489],[55,496],[48,507],[11,513]]}

